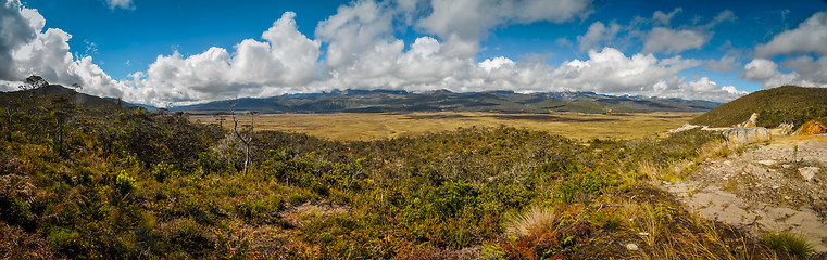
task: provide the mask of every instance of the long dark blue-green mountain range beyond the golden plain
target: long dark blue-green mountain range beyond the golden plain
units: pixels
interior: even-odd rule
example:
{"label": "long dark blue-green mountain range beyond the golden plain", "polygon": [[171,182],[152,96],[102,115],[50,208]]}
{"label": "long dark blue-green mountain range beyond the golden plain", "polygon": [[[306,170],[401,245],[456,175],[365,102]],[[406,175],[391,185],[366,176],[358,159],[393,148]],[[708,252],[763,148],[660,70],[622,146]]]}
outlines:
{"label": "long dark blue-green mountain range beyond the golden plain", "polygon": [[719,103],[649,96],[614,96],[594,92],[515,93],[486,91],[455,93],[437,90],[413,93],[400,90],[344,90],[325,93],[243,98],[172,107],[192,114],[256,110],[261,113],[640,113],[705,112]]}

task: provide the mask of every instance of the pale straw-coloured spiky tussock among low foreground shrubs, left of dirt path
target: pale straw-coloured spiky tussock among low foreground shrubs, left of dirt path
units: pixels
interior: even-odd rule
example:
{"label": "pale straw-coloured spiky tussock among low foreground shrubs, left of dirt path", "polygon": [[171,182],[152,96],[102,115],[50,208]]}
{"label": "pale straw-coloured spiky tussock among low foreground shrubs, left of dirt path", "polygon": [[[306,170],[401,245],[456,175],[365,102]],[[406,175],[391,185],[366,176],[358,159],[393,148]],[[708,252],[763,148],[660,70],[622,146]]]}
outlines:
{"label": "pale straw-coloured spiky tussock among low foreground shrubs, left of dirt path", "polygon": [[508,224],[506,234],[519,237],[543,234],[553,231],[559,222],[554,209],[535,206],[515,216]]}

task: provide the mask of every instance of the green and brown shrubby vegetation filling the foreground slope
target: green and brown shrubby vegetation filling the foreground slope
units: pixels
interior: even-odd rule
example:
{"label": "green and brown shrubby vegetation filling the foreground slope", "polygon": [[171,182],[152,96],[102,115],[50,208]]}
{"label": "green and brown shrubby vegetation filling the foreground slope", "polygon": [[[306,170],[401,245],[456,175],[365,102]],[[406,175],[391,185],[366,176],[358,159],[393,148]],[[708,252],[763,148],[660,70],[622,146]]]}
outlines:
{"label": "green and brown shrubby vegetation filling the foreground slope", "polygon": [[[774,259],[798,250],[762,246],[767,238],[702,219],[649,184],[690,174],[721,142],[698,129],[582,141],[463,128],[340,142],[229,132],[181,113],[78,106],[62,95],[2,99],[2,258]],[[247,167],[240,139],[250,143]]]}

